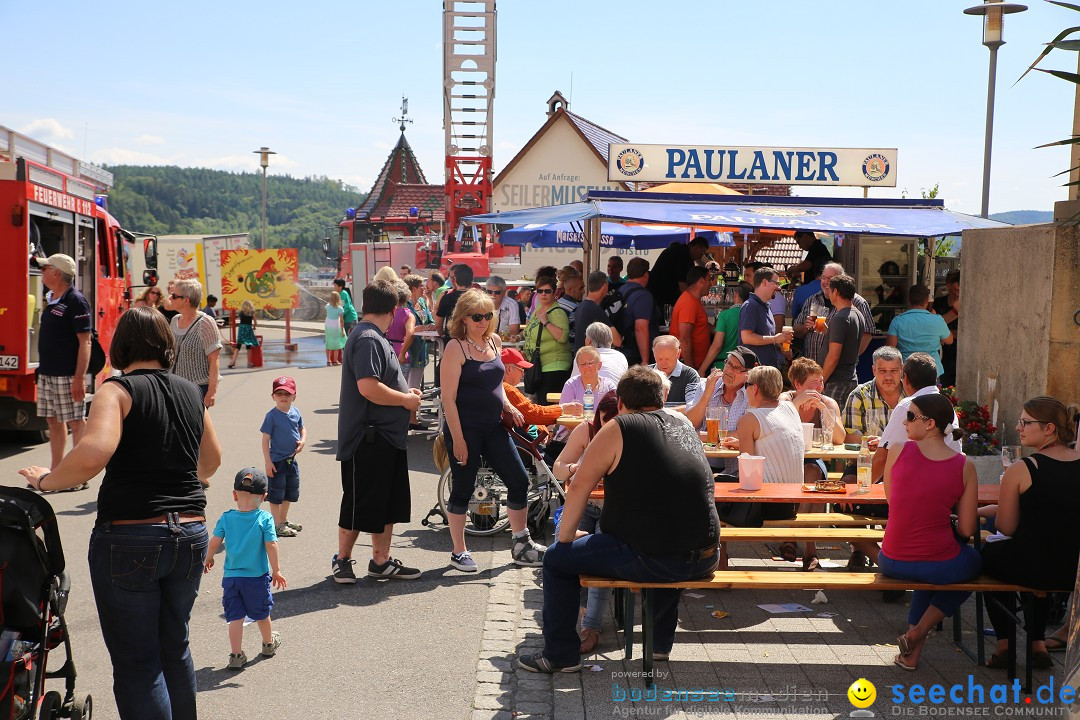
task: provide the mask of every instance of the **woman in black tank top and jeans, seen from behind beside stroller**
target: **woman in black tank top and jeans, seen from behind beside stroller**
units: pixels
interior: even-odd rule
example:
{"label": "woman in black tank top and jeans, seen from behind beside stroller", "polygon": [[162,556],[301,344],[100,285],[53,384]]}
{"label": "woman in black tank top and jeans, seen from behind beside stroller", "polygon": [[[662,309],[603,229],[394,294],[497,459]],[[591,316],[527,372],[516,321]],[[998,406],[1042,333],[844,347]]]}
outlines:
{"label": "woman in black tank top and jeans, seen from behind beside stroller", "polygon": [[203,488],[221,448],[199,389],[167,370],[175,347],[157,310],[121,315],[109,357],[124,375],[98,389],[79,445],[52,472],[19,471],[63,490],[105,467],[90,578],[124,720],[197,715],[188,621],[210,540]]}

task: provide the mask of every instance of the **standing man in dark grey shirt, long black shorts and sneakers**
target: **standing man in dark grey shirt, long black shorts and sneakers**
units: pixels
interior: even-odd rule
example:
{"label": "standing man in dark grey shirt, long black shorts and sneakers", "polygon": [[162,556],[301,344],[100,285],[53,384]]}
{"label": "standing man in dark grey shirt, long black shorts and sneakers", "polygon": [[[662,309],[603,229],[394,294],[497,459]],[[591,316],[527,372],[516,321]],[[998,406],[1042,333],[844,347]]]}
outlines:
{"label": "standing man in dark grey shirt, long black shorts and sneakers", "polygon": [[420,391],[409,389],[397,353],[386,332],[397,308],[397,290],[386,281],[364,288],[364,318],[349,335],[341,365],[337,460],[341,463],[341,510],[338,552],[332,560],[334,581],[356,582],[353,546],[361,532],[372,534],[367,575],[415,580],[390,556],[395,522],[408,522],[408,418],[420,407]]}

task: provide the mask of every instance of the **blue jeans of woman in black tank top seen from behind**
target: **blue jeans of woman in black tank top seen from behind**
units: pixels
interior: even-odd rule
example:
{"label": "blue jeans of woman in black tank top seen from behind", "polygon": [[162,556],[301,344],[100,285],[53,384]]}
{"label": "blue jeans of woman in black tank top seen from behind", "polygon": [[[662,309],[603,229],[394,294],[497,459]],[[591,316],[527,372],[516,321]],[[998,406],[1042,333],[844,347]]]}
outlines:
{"label": "blue jeans of woman in black tank top seen from behind", "polygon": [[121,718],[197,718],[188,621],[208,542],[202,522],[105,524],[90,536],[90,579]]}

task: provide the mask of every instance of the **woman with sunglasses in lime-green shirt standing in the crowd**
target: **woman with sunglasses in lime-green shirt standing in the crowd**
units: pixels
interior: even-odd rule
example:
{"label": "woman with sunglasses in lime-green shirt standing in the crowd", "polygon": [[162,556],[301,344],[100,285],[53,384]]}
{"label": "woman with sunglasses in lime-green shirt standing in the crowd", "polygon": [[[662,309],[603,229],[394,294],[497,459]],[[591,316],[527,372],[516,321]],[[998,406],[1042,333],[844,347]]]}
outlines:
{"label": "woman with sunglasses in lime-green shirt standing in the crowd", "polygon": [[525,326],[524,354],[530,362],[537,348],[540,349],[540,386],[530,391],[537,403],[551,405],[548,393],[561,393],[570,379],[572,363],[570,352],[570,316],[555,301],[556,280],[546,275],[537,279],[536,309]]}

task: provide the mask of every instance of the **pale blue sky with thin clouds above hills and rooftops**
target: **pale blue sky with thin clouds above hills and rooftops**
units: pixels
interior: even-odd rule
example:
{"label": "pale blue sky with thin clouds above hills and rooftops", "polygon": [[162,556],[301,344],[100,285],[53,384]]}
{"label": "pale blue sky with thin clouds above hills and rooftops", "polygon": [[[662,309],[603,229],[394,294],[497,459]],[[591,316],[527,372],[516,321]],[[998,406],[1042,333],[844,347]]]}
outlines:
{"label": "pale blue sky with thin clouds above hills and rooftops", "polygon": [[[636,142],[895,147],[897,188],[872,196],[941,182],[950,208],[976,214],[988,52],[981,19],[962,13],[972,4],[502,0],[496,171],[561,90],[572,111]],[[0,125],[77,157],[253,171],[265,145],[280,153],[271,174],[366,191],[397,139],[404,94],[409,142],[429,181],[443,180],[437,0],[0,6],[16,58]],[[1042,0],[1005,21],[991,213],[1066,196],[1051,176],[1067,150],[1034,148],[1070,134],[1072,85],[1014,81],[1077,21]],[[1076,57],[1055,51],[1044,66],[1076,71]]]}

